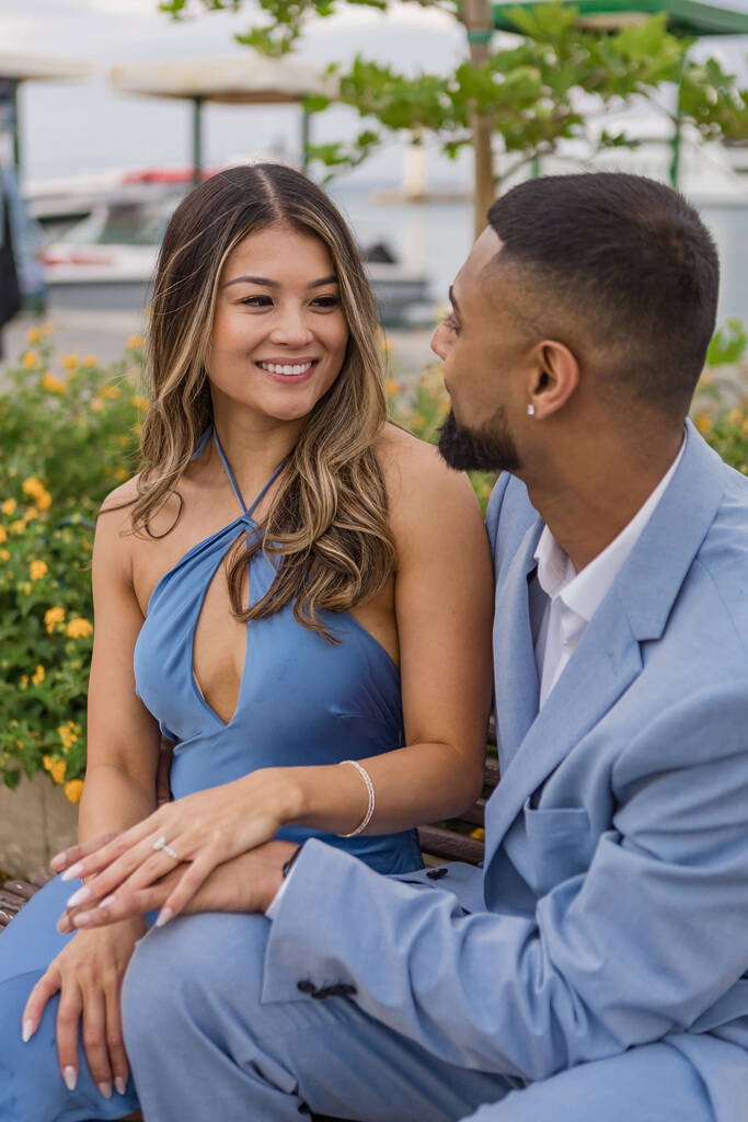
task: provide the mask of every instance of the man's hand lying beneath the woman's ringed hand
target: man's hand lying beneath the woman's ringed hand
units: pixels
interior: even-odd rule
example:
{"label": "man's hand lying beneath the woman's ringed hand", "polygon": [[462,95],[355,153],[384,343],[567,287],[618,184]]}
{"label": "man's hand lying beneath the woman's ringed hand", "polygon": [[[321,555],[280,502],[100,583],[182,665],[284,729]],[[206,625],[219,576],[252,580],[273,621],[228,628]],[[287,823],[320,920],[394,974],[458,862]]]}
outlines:
{"label": "man's hand lying beneath the woman's ringed hand", "polygon": [[[289,842],[267,842],[249,853],[232,857],[219,865],[192,898],[185,912],[231,911],[265,912],[283,882],[283,866],[297,846]],[[146,889],[121,892],[96,905],[67,909],[58,923],[61,930],[73,931],[117,923],[132,916],[163,909],[174,885],[184,873],[177,865],[167,876]],[[157,926],[163,927],[172,916],[168,909],[160,912]]]}

